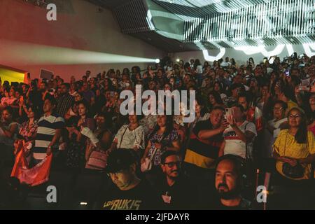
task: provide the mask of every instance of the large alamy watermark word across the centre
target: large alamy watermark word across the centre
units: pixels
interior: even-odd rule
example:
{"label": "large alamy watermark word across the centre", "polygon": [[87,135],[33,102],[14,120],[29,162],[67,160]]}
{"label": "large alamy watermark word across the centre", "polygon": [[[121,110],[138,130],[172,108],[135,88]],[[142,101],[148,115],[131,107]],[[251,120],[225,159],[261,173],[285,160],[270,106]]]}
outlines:
{"label": "large alamy watermark word across the centre", "polygon": [[[126,99],[127,97],[127,99]],[[159,90],[157,94],[153,90],[142,92],[142,85],[136,85],[136,95],[131,90],[123,90],[120,93],[120,99],[125,99],[120,104],[120,113],[123,115],[144,114],[152,115],[183,115],[183,123],[191,123],[195,120],[195,90],[189,91],[189,109],[188,109],[188,91],[187,90]],[[142,104],[142,99],[148,99]],[[157,111],[158,103],[158,111]],[[134,107],[135,105],[135,107]],[[174,105],[174,113],[173,113]],[[134,111],[135,109],[135,111]]]}

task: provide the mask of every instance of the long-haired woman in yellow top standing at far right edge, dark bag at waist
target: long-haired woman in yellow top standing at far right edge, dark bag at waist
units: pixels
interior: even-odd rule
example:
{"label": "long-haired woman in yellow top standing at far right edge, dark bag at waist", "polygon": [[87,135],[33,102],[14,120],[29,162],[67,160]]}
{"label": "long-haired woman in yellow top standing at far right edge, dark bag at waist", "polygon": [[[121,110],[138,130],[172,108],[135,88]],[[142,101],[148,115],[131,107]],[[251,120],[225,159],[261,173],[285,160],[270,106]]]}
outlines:
{"label": "long-haired woman in yellow top standing at far right edge, dark bag at waist", "polygon": [[276,171],[281,174],[277,180],[287,193],[279,201],[290,209],[308,209],[314,135],[307,131],[307,119],[300,109],[288,111],[288,126],[288,130],[281,130],[273,146]]}

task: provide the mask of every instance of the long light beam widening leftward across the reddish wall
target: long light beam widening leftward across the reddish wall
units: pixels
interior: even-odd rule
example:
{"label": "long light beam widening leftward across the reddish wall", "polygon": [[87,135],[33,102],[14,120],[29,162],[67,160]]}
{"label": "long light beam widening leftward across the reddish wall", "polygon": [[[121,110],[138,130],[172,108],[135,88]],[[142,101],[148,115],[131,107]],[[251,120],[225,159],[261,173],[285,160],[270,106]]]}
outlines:
{"label": "long light beam widening leftward across the reddish wall", "polygon": [[3,40],[0,40],[0,52],[0,61],[3,64],[118,64],[155,63],[157,61],[144,57]]}

